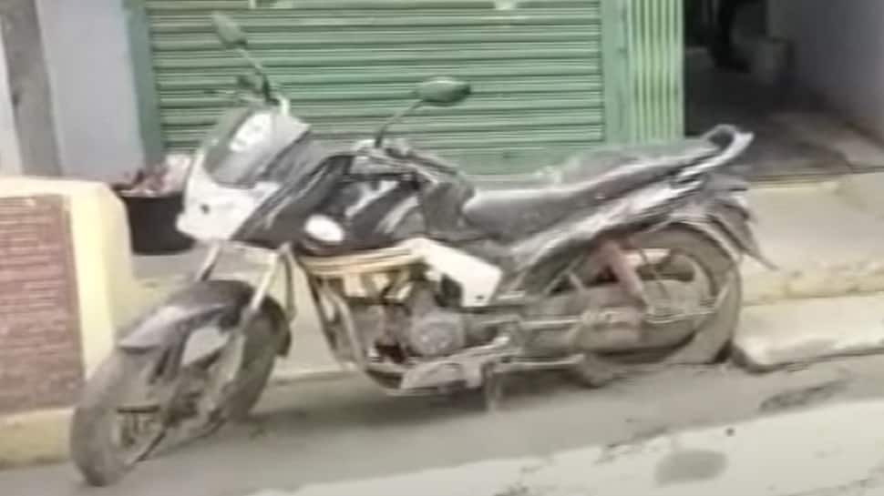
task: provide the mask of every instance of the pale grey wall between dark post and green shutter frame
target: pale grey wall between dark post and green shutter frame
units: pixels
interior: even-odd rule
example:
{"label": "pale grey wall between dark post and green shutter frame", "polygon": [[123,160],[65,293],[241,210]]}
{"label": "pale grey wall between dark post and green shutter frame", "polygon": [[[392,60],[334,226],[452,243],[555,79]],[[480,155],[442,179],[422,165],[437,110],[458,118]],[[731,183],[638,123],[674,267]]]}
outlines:
{"label": "pale grey wall between dark post and green shutter frame", "polygon": [[144,152],[121,0],[33,1],[63,173],[104,181],[131,174]]}

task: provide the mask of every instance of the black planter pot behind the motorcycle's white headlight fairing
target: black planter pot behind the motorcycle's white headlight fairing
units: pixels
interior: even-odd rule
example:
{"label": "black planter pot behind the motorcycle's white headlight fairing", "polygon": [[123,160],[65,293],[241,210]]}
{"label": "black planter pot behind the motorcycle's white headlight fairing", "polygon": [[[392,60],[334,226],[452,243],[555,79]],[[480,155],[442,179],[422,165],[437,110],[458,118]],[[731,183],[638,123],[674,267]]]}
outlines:
{"label": "black planter pot behind the motorcycle's white headlight fairing", "polygon": [[169,255],[193,247],[193,239],[175,228],[183,205],[183,195],[173,193],[149,197],[114,188],[123,200],[128,216],[132,251],[139,255]]}

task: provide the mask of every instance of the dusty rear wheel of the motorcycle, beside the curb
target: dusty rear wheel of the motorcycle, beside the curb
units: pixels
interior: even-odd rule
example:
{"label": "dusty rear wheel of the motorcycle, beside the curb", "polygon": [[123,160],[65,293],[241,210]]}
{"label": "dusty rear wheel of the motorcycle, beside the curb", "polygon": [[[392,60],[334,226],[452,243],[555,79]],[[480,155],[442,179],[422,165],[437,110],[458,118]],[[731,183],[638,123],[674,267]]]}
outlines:
{"label": "dusty rear wheel of the motorcycle, beside the curb", "polygon": [[[672,227],[634,238],[631,244],[627,249],[646,262],[638,264],[646,290],[653,293],[661,278],[694,281],[703,287],[697,294],[705,293],[706,302],[714,302],[714,311],[697,318],[692,336],[678,345],[634,353],[587,355],[584,363],[573,370],[575,378],[586,386],[598,387],[648,366],[714,363],[725,355],[739,322],[743,303],[739,267],[713,239],[691,228]],[[653,252],[664,255],[649,259],[647,255]],[[665,331],[667,325],[683,324],[659,324],[657,329],[649,330]]]}

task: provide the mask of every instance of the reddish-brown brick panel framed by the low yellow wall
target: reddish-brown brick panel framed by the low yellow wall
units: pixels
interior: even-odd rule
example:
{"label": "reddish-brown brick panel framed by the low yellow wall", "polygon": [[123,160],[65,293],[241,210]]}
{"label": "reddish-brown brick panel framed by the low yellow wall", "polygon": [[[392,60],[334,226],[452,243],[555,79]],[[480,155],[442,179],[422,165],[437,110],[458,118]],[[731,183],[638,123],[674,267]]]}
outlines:
{"label": "reddish-brown brick panel framed by the low yellow wall", "polygon": [[72,404],[82,369],[65,200],[0,198],[0,414]]}

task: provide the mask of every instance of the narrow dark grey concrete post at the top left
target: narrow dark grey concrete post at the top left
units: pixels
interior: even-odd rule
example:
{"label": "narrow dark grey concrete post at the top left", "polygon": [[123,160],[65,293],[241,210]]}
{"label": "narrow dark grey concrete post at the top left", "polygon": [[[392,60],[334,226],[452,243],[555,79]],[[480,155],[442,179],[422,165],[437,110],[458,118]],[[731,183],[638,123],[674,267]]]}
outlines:
{"label": "narrow dark grey concrete post at the top left", "polygon": [[0,1],[0,23],[23,172],[55,176],[60,168],[43,44],[33,0]]}

